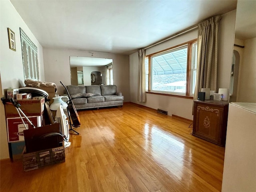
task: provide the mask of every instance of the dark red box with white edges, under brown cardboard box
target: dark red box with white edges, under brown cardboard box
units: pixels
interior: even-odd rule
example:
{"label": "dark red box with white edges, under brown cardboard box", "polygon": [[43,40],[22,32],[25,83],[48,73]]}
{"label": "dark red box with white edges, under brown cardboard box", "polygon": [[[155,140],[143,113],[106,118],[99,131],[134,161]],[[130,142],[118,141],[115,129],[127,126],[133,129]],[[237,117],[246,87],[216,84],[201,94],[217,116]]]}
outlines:
{"label": "dark red box with white edges, under brown cardboard box", "polygon": [[[28,128],[32,128],[32,126],[28,123],[25,118],[22,118]],[[33,116],[28,117],[28,119],[34,124],[35,127],[42,126],[42,116]],[[25,126],[20,117],[16,118],[6,118],[7,121],[7,136],[8,142],[16,142],[16,141],[24,141],[24,133]]]}

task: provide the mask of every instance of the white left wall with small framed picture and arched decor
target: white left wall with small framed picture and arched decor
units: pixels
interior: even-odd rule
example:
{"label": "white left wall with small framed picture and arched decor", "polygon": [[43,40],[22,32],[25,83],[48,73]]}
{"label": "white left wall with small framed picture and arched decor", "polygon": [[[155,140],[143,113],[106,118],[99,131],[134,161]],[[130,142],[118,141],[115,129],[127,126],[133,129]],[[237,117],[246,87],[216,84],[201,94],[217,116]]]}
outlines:
{"label": "white left wall with small framed picture and arched decor", "polygon": [[[24,73],[22,62],[22,51],[20,43],[20,28],[24,30],[30,40],[38,48],[38,63],[40,80],[44,80],[44,62],[42,57],[42,46],[34,37],[28,26],[22,20],[9,0],[0,0],[0,72],[1,86],[5,93],[7,88],[19,88],[24,86]],[[9,48],[7,28],[15,33],[16,51]],[[8,143],[4,105],[0,102],[0,159],[8,158]]]}

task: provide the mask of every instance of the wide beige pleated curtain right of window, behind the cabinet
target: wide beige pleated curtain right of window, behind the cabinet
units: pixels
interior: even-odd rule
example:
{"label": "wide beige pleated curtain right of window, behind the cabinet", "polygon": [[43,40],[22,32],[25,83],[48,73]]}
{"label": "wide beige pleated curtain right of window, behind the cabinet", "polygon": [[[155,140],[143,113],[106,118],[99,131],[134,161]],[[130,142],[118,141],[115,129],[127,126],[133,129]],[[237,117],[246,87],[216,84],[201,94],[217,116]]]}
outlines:
{"label": "wide beige pleated curtain right of window, behind the cabinet", "polygon": [[214,16],[198,24],[197,79],[194,100],[201,88],[217,88],[218,29],[221,16]]}

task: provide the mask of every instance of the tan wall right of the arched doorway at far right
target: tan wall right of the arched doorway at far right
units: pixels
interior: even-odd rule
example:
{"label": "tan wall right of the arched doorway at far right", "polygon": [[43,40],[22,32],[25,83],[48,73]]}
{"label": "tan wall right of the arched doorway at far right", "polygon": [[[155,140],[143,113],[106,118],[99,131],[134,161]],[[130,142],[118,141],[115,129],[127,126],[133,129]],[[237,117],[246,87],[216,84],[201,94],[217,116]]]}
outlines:
{"label": "tan wall right of the arched doorway at far right", "polygon": [[[256,38],[244,40],[239,68],[238,102],[256,103]],[[241,57],[240,57],[241,58]]]}

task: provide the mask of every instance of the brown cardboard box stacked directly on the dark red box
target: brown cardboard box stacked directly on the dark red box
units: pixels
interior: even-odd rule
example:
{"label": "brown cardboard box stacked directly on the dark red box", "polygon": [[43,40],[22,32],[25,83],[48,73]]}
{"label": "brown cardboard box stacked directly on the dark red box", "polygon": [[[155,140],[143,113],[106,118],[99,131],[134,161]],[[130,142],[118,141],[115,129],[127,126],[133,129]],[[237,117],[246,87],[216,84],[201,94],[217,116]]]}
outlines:
{"label": "brown cardboard box stacked directly on the dark red box", "polygon": [[[45,99],[24,99],[17,100],[20,104],[20,109],[26,116],[41,116],[44,114],[44,101]],[[19,114],[13,104],[5,104],[6,118],[19,117]]]}

